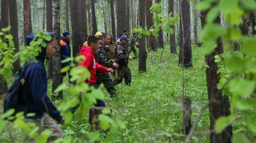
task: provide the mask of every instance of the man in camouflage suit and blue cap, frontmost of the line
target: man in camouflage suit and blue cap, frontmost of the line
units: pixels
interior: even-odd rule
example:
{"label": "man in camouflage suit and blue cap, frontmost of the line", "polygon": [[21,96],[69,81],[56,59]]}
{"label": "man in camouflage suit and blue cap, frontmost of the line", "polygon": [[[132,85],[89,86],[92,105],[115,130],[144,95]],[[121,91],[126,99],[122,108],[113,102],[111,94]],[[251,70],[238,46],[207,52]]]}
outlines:
{"label": "man in camouflage suit and blue cap, frontmost of the line", "polygon": [[117,78],[113,80],[114,86],[120,84],[123,79],[126,85],[132,83],[132,74],[128,67],[128,60],[132,60],[132,57],[128,56],[128,51],[124,46],[129,40],[130,39],[128,39],[127,36],[123,35],[120,38],[120,43],[116,45],[115,59],[116,63],[119,64],[119,67],[117,68]]}

